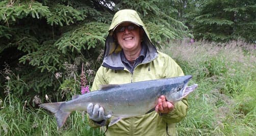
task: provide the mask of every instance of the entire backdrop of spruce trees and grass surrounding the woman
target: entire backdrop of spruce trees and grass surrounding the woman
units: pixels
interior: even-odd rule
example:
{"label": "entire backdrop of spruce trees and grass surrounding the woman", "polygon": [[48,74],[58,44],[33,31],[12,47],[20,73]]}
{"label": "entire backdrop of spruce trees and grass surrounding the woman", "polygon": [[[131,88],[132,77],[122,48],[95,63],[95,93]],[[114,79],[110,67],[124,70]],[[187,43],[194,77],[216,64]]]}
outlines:
{"label": "entire backdrop of spruce trees and grass surrounding the woman", "polygon": [[57,130],[38,105],[91,86],[120,9],[138,11],[152,42],[199,85],[178,134],[256,134],[254,0],[2,0],[0,135],[104,135],[82,112]]}

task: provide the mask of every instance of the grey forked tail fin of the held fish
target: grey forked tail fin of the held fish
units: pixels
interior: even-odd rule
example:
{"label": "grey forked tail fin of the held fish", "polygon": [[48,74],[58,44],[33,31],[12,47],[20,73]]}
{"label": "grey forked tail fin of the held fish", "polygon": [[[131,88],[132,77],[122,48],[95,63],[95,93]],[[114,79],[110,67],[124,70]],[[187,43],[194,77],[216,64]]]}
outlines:
{"label": "grey forked tail fin of the held fish", "polygon": [[67,117],[71,113],[71,112],[61,110],[61,105],[64,103],[65,103],[65,101],[53,102],[53,103],[43,103],[43,104],[39,105],[40,107],[43,107],[46,110],[54,113],[56,120],[57,120],[58,128],[61,128],[63,126],[63,124],[67,120]]}

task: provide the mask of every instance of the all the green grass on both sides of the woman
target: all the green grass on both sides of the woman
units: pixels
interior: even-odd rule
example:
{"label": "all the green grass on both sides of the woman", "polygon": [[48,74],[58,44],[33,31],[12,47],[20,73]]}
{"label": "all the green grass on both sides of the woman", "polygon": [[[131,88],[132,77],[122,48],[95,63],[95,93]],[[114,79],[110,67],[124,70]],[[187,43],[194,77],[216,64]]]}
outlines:
{"label": "all the green grass on both sides of the woman", "polygon": [[[224,45],[182,41],[163,49],[185,74],[193,75],[190,84],[199,85],[189,96],[187,117],[177,124],[179,135],[256,135],[253,48],[241,41]],[[0,98],[0,135],[103,135],[83,121],[81,112],[73,112],[57,130],[52,114],[28,106],[10,92]]]}

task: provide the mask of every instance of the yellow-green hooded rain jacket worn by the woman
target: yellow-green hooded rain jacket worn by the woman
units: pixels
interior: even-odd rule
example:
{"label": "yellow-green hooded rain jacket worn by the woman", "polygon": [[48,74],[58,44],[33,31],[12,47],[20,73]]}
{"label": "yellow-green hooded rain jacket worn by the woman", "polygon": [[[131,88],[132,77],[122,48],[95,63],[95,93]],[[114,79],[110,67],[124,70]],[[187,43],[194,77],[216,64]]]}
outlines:
{"label": "yellow-green hooded rain jacket worn by the woman", "polygon": [[[141,26],[145,32],[143,44],[147,45],[147,53],[142,63],[136,66],[133,72],[127,70],[122,64],[120,59],[121,48],[113,38],[113,29],[123,22],[135,23]],[[184,75],[180,66],[169,56],[157,51],[156,47],[151,43],[145,25],[134,10],[120,10],[115,14],[105,46],[103,64],[96,73],[91,90],[98,90],[100,85],[125,84]],[[122,119],[113,126],[108,127],[106,135],[174,136],[176,134],[175,123],[180,122],[186,116],[187,108],[187,99],[183,99],[174,104],[174,110],[170,114],[159,115],[153,111],[143,116]],[[97,123],[90,119],[89,125],[99,127]]]}

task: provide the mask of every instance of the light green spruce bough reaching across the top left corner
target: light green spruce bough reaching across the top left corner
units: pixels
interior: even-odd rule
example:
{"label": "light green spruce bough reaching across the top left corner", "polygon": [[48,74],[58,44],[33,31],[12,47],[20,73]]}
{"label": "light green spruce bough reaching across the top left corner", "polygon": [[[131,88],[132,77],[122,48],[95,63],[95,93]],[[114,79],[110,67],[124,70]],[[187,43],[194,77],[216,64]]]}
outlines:
{"label": "light green spruce bough reaching across the top left corner", "polygon": [[0,6],[2,7],[0,10],[0,21],[8,25],[9,23],[14,23],[13,21],[17,19],[28,16],[37,19],[45,17],[48,24],[59,24],[61,26],[63,26],[63,22],[70,24],[74,23],[74,20],[80,21],[86,17],[80,11],[61,4],[51,4],[50,7],[47,7],[33,1],[13,1],[12,3],[3,1],[0,3]]}

